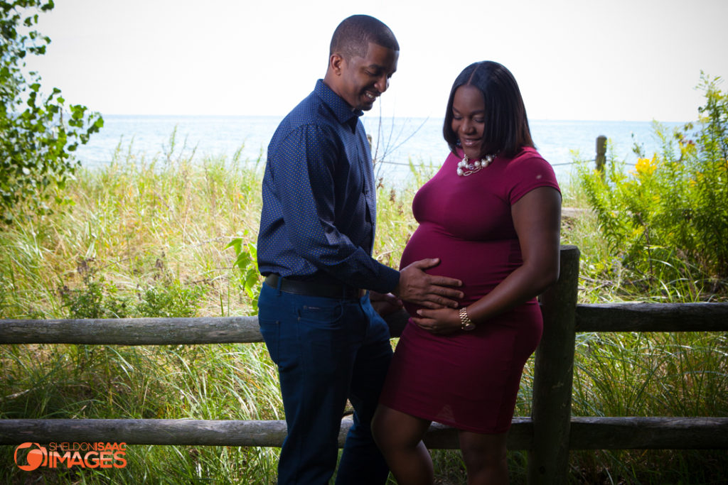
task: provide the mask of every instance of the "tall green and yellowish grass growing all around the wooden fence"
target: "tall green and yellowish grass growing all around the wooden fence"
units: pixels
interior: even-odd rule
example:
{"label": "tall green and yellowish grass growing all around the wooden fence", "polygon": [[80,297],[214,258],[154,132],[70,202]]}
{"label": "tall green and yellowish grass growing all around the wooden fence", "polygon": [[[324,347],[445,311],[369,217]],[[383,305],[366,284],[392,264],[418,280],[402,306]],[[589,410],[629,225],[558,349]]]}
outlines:
{"label": "tall green and yellowish grass growing all around the wooden fence", "polygon": [[[256,242],[261,169],[260,161],[239,154],[193,162],[174,135],[161,156],[117,148],[106,167],[82,170],[68,184],[72,210],[1,228],[1,318],[68,318],[96,307],[125,316],[253,313],[233,265],[236,254],[226,246],[236,238]],[[414,191],[432,171],[413,169],[409,185],[377,188],[375,253],[395,267],[416,228]],[[563,189],[565,205],[584,207],[578,188]],[[563,224],[563,242],[582,251],[580,301],[632,299],[620,293],[619,273],[604,276],[611,256],[596,224],[589,214]],[[580,334],[574,414],[728,415],[727,351],[722,334]],[[4,345],[0,368],[1,418],[283,417],[277,372],[262,344]],[[516,415],[531,412],[532,375],[531,361]],[[0,481],[272,484],[277,452],[129,446],[126,468],[64,474],[18,470],[13,447],[3,446]],[[433,456],[442,483],[463,483],[459,452]],[[724,452],[574,452],[571,475],[574,483],[711,483],[728,473],[726,458]],[[512,483],[523,483],[526,454],[511,452],[509,460]]]}

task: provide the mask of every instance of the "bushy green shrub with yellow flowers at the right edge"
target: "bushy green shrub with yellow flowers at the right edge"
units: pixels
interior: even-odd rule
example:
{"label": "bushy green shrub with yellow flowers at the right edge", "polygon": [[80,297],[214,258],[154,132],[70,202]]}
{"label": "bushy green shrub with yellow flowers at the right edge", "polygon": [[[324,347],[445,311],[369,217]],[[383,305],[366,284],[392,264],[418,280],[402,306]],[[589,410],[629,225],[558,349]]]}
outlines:
{"label": "bushy green shrub with yellow flowers at the right edge", "polygon": [[634,169],[579,169],[601,232],[639,291],[694,300],[727,287],[728,93],[719,82],[701,76],[697,132],[686,124],[668,134],[655,123],[661,153],[646,156],[636,145]]}

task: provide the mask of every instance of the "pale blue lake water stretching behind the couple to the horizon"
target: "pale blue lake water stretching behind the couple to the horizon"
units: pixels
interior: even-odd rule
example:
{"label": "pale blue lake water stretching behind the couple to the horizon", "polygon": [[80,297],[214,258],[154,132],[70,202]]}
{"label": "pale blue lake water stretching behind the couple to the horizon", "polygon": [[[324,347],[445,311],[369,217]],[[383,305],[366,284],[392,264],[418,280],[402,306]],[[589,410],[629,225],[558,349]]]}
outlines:
{"label": "pale blue lake water stretching behind the couple to the horizon", "polygon": [[[174,153],[192,153],[194,159],[205,156],[232,158],[242,147],[242,159],[265,160],[266,148],[281,116],[128,116],[106,115],[105,126],[92,135],[90,142],[77,151],[85,167],[98,167],[111,161],[117,146],[122,153],[151,159],[170,151],[170,135],[176,129]],[[404,180],[408,162],[438,166],[447,155],[442,137],[442,119],[380,119],[363,116],[363,123],[373,137],[373,153],[383,163],[378,177]],[[531,135],[539,152],[549,161],[558,180],[568,180],[574,161],[572,153],[582,159],[594,159],[596,137],[609,138],[617,159],[636,162],[634,142],[644,145],[646,153],[659,149],[650,121],[542,121],[532,120]],[[665,123],[670,129],[679,123]],[[184,147],[184,148],[183,148]]]}

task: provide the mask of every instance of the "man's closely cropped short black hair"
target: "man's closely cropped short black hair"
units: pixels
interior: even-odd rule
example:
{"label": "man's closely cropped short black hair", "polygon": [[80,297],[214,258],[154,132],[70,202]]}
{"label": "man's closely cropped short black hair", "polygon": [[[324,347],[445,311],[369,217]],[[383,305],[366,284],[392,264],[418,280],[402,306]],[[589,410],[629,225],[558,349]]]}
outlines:
{"label": "man's closely cropped short black hair", "polygon": [[395,34],[381,20],[369,15],[352,15],[342,20],[336,31],[333,31],[328,55],[331,57],[338,53],[346,60],[354,56],[365,57],[370,42],[387,49],[400,50]]}

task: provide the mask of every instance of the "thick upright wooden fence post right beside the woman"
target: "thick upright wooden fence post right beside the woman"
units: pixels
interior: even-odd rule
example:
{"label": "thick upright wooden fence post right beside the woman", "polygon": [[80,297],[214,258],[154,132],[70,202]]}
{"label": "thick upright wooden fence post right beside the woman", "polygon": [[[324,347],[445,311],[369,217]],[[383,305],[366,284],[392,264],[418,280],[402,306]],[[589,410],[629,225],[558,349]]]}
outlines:
{"label": "thick upright wooden fence post right beside the woman", "polygon": [[534,364],[529,485],[568,482],[579,248],[561,246],[558,282],[541,295],[544,333]]}

